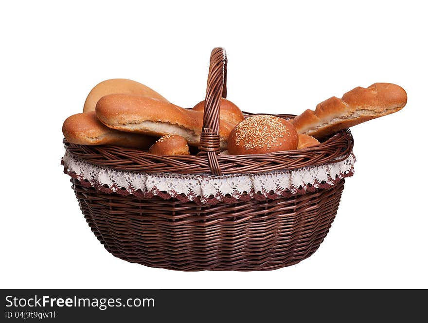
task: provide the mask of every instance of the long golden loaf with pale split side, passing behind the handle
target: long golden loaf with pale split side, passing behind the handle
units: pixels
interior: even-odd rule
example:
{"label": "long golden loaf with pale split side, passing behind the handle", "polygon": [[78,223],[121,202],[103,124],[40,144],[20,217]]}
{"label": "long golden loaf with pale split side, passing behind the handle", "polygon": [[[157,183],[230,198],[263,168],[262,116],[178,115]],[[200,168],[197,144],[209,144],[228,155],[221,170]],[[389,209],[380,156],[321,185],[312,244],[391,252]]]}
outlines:
{"label": "long golden loaf with pale split side, passing behind the handle", "polygon": [[[109,128],[158,137],[177,134],[189,145],[199,145],[203,125],[203,113],[199,111],[149,97],[111,94],[98,101],[96,113]],[[220,120],[220,149],[226,149],[232,129],[232,124]]]}

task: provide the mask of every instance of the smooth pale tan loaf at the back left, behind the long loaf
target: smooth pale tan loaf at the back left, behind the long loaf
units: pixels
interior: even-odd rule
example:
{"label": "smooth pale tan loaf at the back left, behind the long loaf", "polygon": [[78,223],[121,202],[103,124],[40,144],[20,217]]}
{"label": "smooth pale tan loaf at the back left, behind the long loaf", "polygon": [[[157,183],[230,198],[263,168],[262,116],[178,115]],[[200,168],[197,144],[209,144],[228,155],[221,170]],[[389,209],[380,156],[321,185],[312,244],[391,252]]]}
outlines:
{"label": "smooth pale tan loaf at the back left, behind the long loaf", "polygon": [[115,93],[153,97],[168,102],[166,98],[162,97],[158,92],[152,90],[144,84],[127,79],[111,79],[98,83],[89,92],[89,95],[85,101],[85,105],[83,106],[83,112],[95,111],[95,105],[101,97],[107,96],[107,94]]}

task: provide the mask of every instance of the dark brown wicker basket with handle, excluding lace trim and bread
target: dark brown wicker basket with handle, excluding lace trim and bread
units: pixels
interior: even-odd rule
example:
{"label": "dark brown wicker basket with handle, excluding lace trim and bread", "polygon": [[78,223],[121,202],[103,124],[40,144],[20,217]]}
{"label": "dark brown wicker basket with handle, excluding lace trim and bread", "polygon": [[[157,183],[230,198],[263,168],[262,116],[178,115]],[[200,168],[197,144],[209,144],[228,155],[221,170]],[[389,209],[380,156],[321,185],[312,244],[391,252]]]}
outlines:
{"label": "dark brown wicker basket with handle, excluding lace trim and bread", "polygon": [[[66,150],[75,159],[118,171],[201,174],[207,178],[286,172],[343,161],[352,154],[353,137],[344,130],[303,150],[218,155],[219,102],[220,97],[226,97],[226,65],[224,49],[214,48],[200,153],[196,156],[163,157],[129,148],[64,141]],[[344,185],[340,177],[334,178],[333,184],[320,183],[294,193],[256,192],[202,203],[181,196],[111,193],[79,179],[67,165],[65,171],[72,177],[72,188],[92,232],[107,251],[129,262],[181,271],[272,270],[308,258],[335,218]]]}

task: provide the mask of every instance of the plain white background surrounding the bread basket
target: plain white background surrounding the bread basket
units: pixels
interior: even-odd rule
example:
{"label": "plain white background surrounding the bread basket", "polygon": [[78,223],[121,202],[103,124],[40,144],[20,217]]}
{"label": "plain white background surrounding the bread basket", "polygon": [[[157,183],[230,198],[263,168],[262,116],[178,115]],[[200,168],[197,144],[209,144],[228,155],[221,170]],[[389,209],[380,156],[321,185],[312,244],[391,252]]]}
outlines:
{"label": "plain white background surrounding the bread basket", "polygon": [[[283,2],[3,3],[1,288],[428,288],[423,1]],[[191,107],[217,46],[228,52],[228,98],[246,111],[298,114],[374,82],[401,85],[408,104],[352,129],[356,174],[300,264],[182,273],[114,258],[62,173],[62,123],[110,78]]]}

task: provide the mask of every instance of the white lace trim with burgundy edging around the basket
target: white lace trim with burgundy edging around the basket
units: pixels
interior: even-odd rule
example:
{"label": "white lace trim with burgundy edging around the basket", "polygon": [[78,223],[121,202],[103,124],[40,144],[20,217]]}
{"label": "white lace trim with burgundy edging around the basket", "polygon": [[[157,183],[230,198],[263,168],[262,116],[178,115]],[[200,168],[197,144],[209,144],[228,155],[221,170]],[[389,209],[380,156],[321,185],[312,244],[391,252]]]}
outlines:
{"label": "white lace trim with burgundy edging around the basket", "polygon": [[355,156],[351,153],[344,161],[320,166],[215,177],[206,174],[125,172],[77,159],[69,152],[63,157],[69,175],[107,193],[144,197],[158,195],[164,198],[185,196],[186,200],[198,200],[200,203],[207,203],[210,199],[239,199],[244,195],[252,198],[259,193],[265,197],[285,196],[325,188],[336,184],[341,178],[352,176],[355,161]]}

